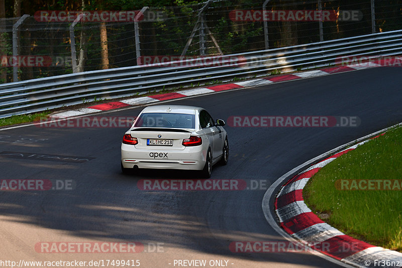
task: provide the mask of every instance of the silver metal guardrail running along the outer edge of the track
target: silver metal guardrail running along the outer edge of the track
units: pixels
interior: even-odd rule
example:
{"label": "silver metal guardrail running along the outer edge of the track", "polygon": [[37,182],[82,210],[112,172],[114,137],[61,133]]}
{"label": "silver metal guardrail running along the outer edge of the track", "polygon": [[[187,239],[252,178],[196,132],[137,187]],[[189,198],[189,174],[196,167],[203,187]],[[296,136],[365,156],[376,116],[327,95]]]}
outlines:
{"label": "silver metal guardrail running along the outer edge of the track", "polygon": [[[271,50],[73,73],[0,85],[0,118],[80,104],[103,98],[128,97],[150,91],[202,86],[334,65],[341,56],[390,56],[402,53],[402,30]],[[214,61],[215,60],[215,61]],[[218,60],[218,64],[217,64]],[[227,64],[224,64],[225,62]]]}

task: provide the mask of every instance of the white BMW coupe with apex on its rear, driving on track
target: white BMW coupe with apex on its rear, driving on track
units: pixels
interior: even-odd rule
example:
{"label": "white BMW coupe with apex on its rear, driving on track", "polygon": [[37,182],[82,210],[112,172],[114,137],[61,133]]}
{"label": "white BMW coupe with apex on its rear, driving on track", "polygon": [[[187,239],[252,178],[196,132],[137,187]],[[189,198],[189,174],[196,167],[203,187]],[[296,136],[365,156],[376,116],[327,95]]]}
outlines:
{"label": "white BMW coupe with apex on its rear, driving on track", "polygon": [[122,142],[122,171],[140,169],[199,170],[210,178],[212,166],[228,163],[225,121],[203,108],[148,106],[134,120]]}

